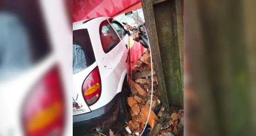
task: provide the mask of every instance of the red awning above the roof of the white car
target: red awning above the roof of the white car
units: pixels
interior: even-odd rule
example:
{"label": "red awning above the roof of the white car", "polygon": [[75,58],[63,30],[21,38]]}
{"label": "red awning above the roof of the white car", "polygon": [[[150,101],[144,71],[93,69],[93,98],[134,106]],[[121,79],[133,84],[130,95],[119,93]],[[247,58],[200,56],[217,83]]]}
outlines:
{"label": "red awning above the roof of the white car", "polygon": [[113,17],[140,7],[140,0],[73,0],[73,22],[101,16]]}

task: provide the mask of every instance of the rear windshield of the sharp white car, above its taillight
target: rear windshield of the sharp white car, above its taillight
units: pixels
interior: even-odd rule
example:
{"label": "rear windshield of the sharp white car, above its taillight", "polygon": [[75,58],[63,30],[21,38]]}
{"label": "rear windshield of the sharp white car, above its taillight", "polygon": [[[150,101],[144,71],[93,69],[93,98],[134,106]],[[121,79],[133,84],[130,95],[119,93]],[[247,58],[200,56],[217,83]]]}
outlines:
{"label": "rear windshield of the sharp white car, above its taillight", "polygon": [[73,74],[95,62],[95,56],[87,29],[73,31]]}

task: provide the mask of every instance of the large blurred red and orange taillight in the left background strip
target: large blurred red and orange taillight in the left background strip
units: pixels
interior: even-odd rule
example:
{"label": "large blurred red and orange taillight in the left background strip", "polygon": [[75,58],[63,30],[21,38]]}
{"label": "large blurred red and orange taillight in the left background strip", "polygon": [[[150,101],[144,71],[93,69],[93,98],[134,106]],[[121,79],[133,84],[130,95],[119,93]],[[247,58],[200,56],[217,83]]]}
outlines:
{"label": "large blurred red and orange taillight in the left background strip", "polygon": [[62,135],[65,121],[63,90],[58,69],[46,73],[32,89],[22,111],[22,123],[28,136]]}

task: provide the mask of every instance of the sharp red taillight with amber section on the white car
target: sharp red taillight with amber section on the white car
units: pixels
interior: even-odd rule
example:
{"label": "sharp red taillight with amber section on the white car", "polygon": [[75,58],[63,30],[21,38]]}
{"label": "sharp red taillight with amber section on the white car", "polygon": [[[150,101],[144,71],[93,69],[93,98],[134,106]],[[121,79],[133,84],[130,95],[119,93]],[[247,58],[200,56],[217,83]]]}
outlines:
{"label": "sharp red taillight with amber section on the white car", "polygon": [[82,86],[82,92],[88,106],[95,104],[99,100],[101,80],[98,66],[86,77]]}

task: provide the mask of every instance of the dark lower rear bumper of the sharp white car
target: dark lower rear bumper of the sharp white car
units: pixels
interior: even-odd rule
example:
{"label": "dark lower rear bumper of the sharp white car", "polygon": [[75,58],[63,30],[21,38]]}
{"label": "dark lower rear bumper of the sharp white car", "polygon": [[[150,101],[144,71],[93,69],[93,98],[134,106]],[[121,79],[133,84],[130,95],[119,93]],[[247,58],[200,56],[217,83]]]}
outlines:
{"label": "dark lower rear bumper of the sharp white car", "polygon": [[88,134],[96,128],[108,128],[118,116],[121,92],[105,106],[89,113],[73,116],[73,135]]}

